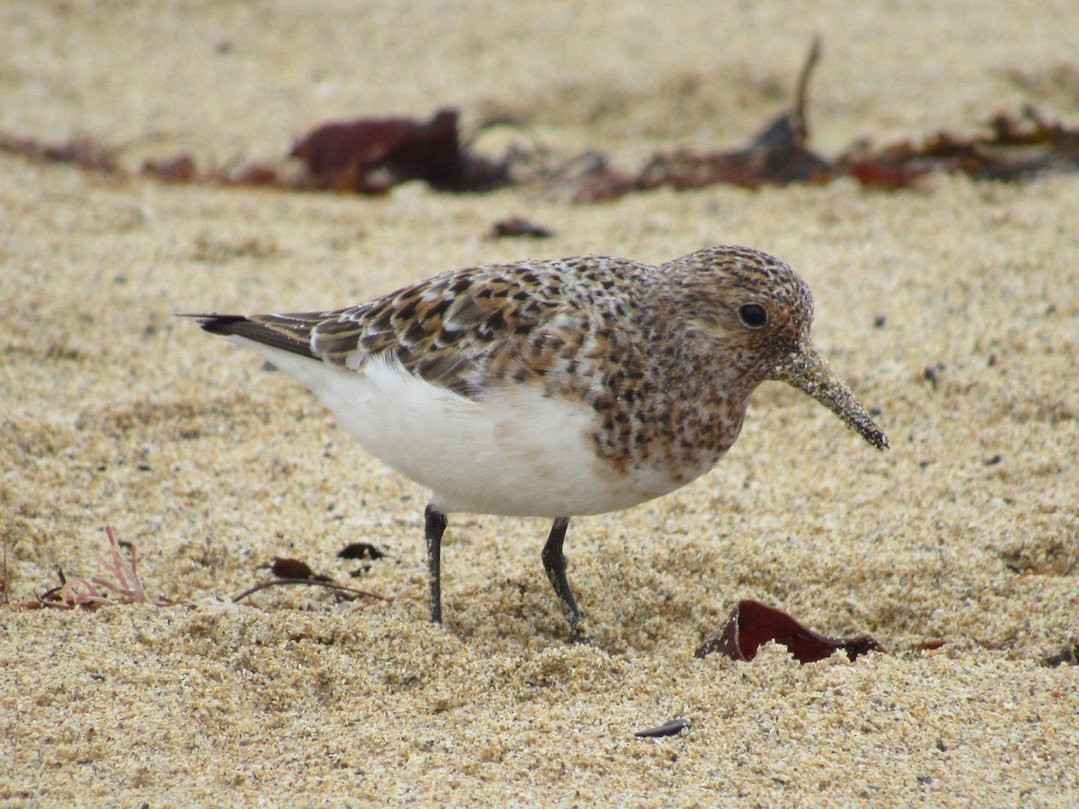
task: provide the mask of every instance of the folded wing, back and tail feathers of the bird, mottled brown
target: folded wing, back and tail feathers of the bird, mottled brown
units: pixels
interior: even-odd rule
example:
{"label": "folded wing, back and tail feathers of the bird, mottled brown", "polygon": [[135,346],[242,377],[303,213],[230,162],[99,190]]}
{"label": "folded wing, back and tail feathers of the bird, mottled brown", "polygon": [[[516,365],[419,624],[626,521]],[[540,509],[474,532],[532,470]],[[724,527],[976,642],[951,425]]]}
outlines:
{"label": "folded wing, back and tail feathers of the bird, mottled brown", "polygon": [[[620,305],[603,290],[619,280],[637,293],[646,270],[596,257],[501,264],[443,273],[351,308],[195,317],[211,333],[241,335],[342,370],[359,371],[390,354],[410,373],[468,396],[482,384],[525,373],[527,358],[537,378],[551,364],[572,361],[591,342],[600,313]],[[550,348],[548,341],[557,343],[559,357],[533,356]]]}

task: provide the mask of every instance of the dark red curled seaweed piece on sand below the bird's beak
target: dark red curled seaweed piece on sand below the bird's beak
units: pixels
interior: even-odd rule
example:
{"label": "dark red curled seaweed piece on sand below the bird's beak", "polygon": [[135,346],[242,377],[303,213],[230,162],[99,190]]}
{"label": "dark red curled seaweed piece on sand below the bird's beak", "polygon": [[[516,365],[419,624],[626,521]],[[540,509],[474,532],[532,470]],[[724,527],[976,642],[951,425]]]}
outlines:
{"label": "dark red curled seaweed piece on sand below the bird's beak", "polygon": [[790,615],[759,601],[739,601],[726,623],[712,632],[694,653],[702,658],[718,652],[734,660],[752,660],[769,641],[787,647],[802,664],[811,663],[842,650],[853,661],[869,652],[884,648],[869,635],[827,637],[794,620]]}

